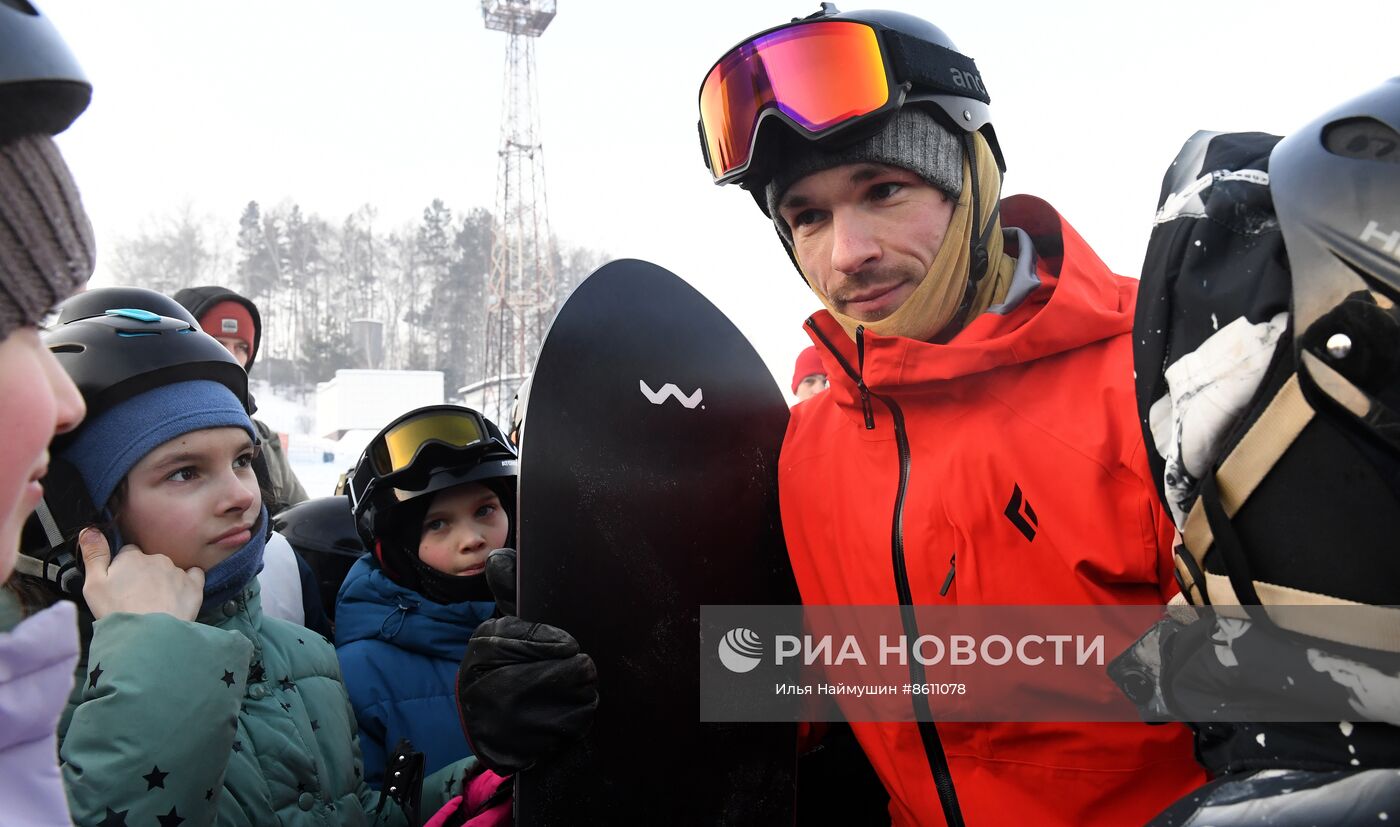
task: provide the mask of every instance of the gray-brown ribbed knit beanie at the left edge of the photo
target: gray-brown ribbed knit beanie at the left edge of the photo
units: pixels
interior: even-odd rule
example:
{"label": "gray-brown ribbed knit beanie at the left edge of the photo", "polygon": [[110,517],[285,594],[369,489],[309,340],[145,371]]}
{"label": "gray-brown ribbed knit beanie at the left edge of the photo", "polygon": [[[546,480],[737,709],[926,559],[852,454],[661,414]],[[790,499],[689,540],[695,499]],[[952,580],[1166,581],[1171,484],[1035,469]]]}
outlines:
{"label": "gray-brown ribbed knit beanie at the left edge of the photo", "polygon": [[92,225],[53,139],[0,146],[0,339],[77,292],[94,255]]}

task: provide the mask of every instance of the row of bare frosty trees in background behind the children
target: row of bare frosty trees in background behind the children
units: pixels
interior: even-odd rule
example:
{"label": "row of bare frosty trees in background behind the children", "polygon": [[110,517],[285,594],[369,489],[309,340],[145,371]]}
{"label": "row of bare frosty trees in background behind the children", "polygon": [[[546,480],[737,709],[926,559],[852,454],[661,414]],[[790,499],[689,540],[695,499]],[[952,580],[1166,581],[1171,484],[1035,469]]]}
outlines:
{"label": "row of bare frosty trees in background behind the children", "polygon": [[[174,292],[224,284],[253,299],[263,318],[260,371],[309,390],[339,368],[360,367],[350,322],[384,325],[379,367],[438,369],[448,388],[484,374],[486,283],[491,214],[433,200],[420,220],[385,229],[372,204],[333,225],[294,202],[248,202],[231,250],[221,227],[188,204],[146,221],[116,243],[126,284]],[[560,302],[608,259],[556,245]]]}

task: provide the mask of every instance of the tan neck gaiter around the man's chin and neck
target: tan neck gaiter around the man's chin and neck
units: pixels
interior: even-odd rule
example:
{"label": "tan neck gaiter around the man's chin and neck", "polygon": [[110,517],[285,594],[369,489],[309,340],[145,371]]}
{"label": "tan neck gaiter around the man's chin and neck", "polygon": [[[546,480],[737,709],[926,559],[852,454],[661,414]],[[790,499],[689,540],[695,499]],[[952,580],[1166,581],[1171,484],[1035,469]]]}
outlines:
{"label": "tan neck gaiter around the man's chin and neck", "polygon": [[[983,213],[977,217],[976,224],[984,227],[987,215],[1001,199],[1001,171],[997,168],[997,161],[981,133],[973,133],[973,147],[977,155],[977,183],[981,189]],[[976,319],[988,306],[1007,297],[1011,276],[1016,267],[1015,259],[1002,252],[1001,220],[997,218],[987,239],[987,260],[991,262],[987,267],[987,276],[977,287],[977,295],[973,297],[966,315],[962,319],[953,319],[967,290],[973,234],[972,202],[972,169],[965,160],[962,197],[958,199],[958,206],[953,207],[953,214],[948,220],[948,232],[944,234],[944,243],[938,248],[938,255],[934,256],[934,266],[928,269],[928,276],[918,283],[904,304],[878,322],[861,322],[837,312],[830,299],[816,288],[815,280],[808,278],[806,283],[812,285],[812,291],[851,339],[855,339],[855,327],[858,326],[879,336],[906,336],[920,341],[932,341],[939,337],[949,323],[956,323],[960,329],[969,319]]]}

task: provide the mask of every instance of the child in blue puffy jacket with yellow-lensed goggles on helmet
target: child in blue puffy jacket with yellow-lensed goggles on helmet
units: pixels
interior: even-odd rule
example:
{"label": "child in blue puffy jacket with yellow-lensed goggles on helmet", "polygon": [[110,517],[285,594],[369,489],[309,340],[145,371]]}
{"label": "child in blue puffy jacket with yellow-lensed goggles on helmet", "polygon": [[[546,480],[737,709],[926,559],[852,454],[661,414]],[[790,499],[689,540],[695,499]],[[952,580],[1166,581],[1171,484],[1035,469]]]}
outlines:
{"label": "child in blue puffy jacket with yellow-lensed goggles on helmet", "polygon": [[440,404],[391,423],[351,472],[349,508],[371,553],[340,588],[336,649],[372,785],[402,737],[426,772],[472,754],[456,669],[496,610],[486,556],[512,544],[515,469],[496,424]]}

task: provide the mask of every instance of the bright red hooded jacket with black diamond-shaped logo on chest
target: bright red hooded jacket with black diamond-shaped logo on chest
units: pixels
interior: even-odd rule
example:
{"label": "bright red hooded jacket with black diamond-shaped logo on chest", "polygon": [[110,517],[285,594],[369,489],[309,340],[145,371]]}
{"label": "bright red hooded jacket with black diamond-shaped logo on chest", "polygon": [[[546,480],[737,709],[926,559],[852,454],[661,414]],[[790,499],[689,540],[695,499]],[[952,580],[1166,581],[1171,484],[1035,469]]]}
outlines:
{"label": "bright red hooded jacket with black diamond-shaped logo on chest", "polygon": [[[896,537],[913,605],[1149,605],[1176,592],[1133,392],[1137,281],[1039,199],[1009,197],[1001,215],[1029,234],[1035,278],[1022,271],[1014,306],[952,341],[864,334],[861,358],[830,313],[808,319],[830,390],[792,410],[778,472],[805,605],[897,605]],[[1022,522],[1036,515],[1033,540],[1007,514],[1014,491]],[[853,729],[893,823],[942,824],[917,725]],[[972,827],[1142,824],[1204,782],[1175,723],[938,732]]]}

